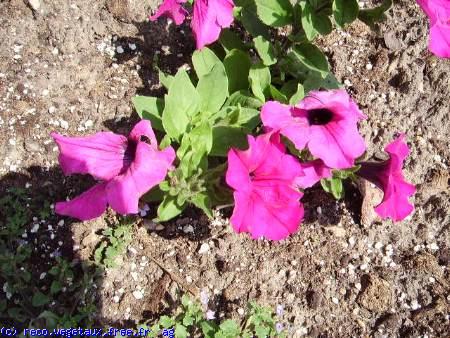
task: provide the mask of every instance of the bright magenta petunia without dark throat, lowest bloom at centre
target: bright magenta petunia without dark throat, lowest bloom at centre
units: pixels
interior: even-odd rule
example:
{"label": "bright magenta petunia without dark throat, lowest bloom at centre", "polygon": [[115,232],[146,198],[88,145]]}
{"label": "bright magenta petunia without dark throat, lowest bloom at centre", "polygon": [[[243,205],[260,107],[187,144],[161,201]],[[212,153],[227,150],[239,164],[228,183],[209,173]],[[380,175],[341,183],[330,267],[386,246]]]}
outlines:
{"label": "bright magenta petunia without dark throat, lowest bloom at centre", "polygon": [[231,224],[253,238],[284,239],[303,218],[303,194],[295,187],[300,163],[285,153],[278,134],[248,136],[248,143],[248,150],[228,152],[226,181],[235,190]]}

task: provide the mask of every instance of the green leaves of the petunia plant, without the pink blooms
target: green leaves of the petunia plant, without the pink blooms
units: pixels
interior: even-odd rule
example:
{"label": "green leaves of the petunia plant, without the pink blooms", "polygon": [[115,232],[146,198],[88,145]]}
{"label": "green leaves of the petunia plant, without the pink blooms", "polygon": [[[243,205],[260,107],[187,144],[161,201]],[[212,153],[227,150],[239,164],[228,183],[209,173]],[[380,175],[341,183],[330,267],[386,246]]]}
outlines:
{"label": "green leaves of the petunia plant, without the pink blooms", "polygon": [[[330,33],[333,22],[341,28],[357,17],[374,22],[388,2],[360,11],[357,0],[236,0],[234,16],[244,34],[224,29],[212,49],[193,53],[190,74],[166,75],[155,66],[167,88],[164,101],[138,96],[133,102],[142,118],[166,133],[161,148],[176,149],[176,169],[146,196],[160,202],[157,220],[168,221],[188,205],[211,217],[214,206],[231,202],[218,175],[230,149],[246,149],[247,135],[259,131],[264,102],[295,105],[312,90],[342,87],[314,39]],[[340,198],[341,180],[322,185]]]}

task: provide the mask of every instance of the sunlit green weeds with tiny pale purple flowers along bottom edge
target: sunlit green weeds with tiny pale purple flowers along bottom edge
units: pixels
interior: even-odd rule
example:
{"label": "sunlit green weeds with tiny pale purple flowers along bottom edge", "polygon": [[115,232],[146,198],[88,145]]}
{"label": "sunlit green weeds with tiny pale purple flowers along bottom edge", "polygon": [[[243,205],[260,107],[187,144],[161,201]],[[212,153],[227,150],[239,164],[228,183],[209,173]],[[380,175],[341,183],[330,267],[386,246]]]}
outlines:
{"label": "sunlit green weeds with tiny pale purple flowers along bottom edge", "polygon": [[175,329],[175,337],[197,337],[204,338],[236,338],[236,337],[286,337],[286,332],[277,332],[276,320],[270,308],[259,306],[251,302],[249,304],[248,316],[243,325],[235,320],[225,319],[221,322],[205,318],[200,304],[192,301],[187,295],[181,298],[181,306],[176,313],[169,316],[161,316],[153,324],[145,323],[139,328],[151,329],[148,337],[159,337],[163,329]]}

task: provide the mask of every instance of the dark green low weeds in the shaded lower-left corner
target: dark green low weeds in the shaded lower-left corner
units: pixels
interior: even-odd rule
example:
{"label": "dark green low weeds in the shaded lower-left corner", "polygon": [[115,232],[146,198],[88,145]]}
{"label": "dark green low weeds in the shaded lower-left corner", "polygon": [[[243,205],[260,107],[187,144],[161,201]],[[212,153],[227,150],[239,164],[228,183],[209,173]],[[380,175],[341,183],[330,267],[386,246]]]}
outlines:
{"label": "dark green low weeds in the shaded lower-left corner", "polygon": [[[99,270],[63,257],[36,265],[34,241],[46,234],[22,234],[33,215],[54,221],[49,204],[32,200],[23,189],[10,189],[0,198],[0,321],[16,327],[60,328],[92,325],[94,279]],[[30,241],[30,242],[28,242]],[[75,279],[75,276],[81,276]]]}

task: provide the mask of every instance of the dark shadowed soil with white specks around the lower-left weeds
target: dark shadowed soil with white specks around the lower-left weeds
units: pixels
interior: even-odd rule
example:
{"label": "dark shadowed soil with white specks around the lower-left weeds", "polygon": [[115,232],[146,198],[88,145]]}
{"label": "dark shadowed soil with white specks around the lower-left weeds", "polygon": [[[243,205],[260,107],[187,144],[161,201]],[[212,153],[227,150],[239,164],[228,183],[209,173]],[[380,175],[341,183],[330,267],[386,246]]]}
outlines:
{"label": "dark shadowed soil with white specks around the lower-left weeds", "polygon": [[[26,313],[26,320],[33,320],[33,327],[48,328],[48,323],[44,318],[38,318],[44,311],[50,311],[57,316],[66,316],[71,318],[77,313],[77,308],[82,306],[80,299],[84,294],[84,289],[72,290],[70,283],[64,285],[66,289],[61,289],[51,295],[49,287],[52,281],[57,278],[53,277],[49,271],[52,267],[61,266],[56,259],[63,259],[69,264],[73,263],[71,267],[74,273],[74,282],[79,281],[85,276],[86,269],[89,271],[97,271],[95,265],[90,264],[85,266],[82,260],[78,257],[74,250],[74,241],[72,236],[72,224],[75,220],[70,218],[63,218],[54,214],[52,205],[56,201],[65,200],[67,195],[74,196],[83,191],[90,185],[90,182],[85,177],[70,177],[63,176],[59,168],[45,169],[38,166],[32,166],[25,169],[22,173],[8,173],[0,178],[0,197],[11,198],[14,200],[23,201],[24,212],[23,220],[20,224],[20,231],[25,231],[17,240],[11,235],[7,235],[8,231],[12,231],[16,219],[14,218],[18,213],[8,208],[0,212],[0,231],[1,243],[5,244],[7,248],[2,248],[3,254],[8,252],[12,257],[20,252],[20,248],[31,248],[31,255],[26,256],[25,260],[21,261],[22,269],[27,270],[31,275],[28,281],[20,282],[22,291],[13,294],[10,299],[5,298],[5,293],[0,293],[0,302],[7,301],[7,309],[22,309]],[[17,198],[20,197],[20,199]],[[17,210],[15,209],[15,210]],[[5,229],[9,229],[6,230]],[[0,244],[1,244],[0,243]],[[5,251],[6,250],[6,251]],[[17,250],[17,253],[16,253]],[[3,259],[5,256],[2,257]],[[14,258],[17,259],[17,258]],[[25,268],[24,268],[25,267]],[[22,271],[25,271],[22,270]],[[95,273],[95,275],[97,275]],[[100,274],[99,274],[100,275]],[[98,275],[98,276],[99,276]],[[0,275],[0,284],[4,285],[7,275]],[[25,279],[26,280],[26,279]],[[102,280],[100,277],[95,279],[95,284],[100,286]],[[92,286],[92,284],[90,284]],[[50,303],[42,306],[32,306],[32,298],[37,292],[42,292],[50,297]],[[91,293],[90,293],[91,294]],[[20,296],[19,296],[20,295]],[[93,296],[97,298],[97,296]],[[97,300],[95,300],[97,303]],[[98,304],[98,303],[97,303]],[[101,304],[99,304],[101,307]],[[17,329],[26,328],[27,322],[22,322],[20,316],[17,314],[7,314],[6,322]],[[67,319],[66,319],[67,320]]]}

